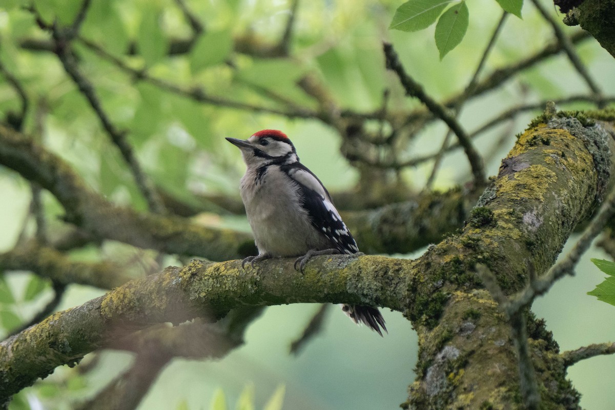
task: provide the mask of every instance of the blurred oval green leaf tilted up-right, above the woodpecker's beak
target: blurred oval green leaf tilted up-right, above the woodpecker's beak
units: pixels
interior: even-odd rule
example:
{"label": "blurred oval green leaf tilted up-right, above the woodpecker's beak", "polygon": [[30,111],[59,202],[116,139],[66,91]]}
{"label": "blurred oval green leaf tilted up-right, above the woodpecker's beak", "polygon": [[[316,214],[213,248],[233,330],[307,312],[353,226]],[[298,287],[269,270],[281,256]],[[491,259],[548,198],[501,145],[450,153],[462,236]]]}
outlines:
{"label": "blurred oval green leaf tilted up-right, above the woodpecker's beak", "polygon": [[231,31],[215,31],[200,36],[190,51],[192,73],[223,63],[232,52]]}

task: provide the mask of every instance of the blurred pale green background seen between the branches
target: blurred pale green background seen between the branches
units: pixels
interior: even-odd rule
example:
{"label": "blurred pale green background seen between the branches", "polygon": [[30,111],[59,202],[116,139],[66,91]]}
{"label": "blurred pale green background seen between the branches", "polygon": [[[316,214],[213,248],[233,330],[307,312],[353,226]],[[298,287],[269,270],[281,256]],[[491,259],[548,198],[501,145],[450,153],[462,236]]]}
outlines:
{"label": "blurred pale green background seen between the branches", "polygon": [[[53,6],[78,9],[79,3],[58,2]],[[60,4],[62,3],[62,4]],[[25,37],[47,39],[28,10],[0,4],[0,60],[26,87],[33,103],[43,112],[44,144],[73,165],[90,186],[113,202],[145,209],[145,203],[132,182],[116,149],[101,130],[98,119],[73,83],[66,78],[52,53],[31,52],[19,47]],[[148,73],[183,87],[201,85],[213,95],[234,101],[271,106],[282,95],[296,104],[314,106],[314,101],[295,85],[304,73],[317,73],[340,106],[370,111],[381,106],[384,89],[391,89],[401,108],[419,106],[403,98],[395,77],[386,73],[381,42],[391,41],[409,73],[436,98],[462,90],[480,60],[482,50],[501,9],[498,3],[468,2],[470,24],[459,47],[440,61],[434,45],[434,27],[416,33],[390,31],[399,1],[303,1],[296,15],[292,40],[293,58],[261,59],[231,51],[232,37],[254,36],[269,41],[284,30],[290,2],[271,1],[189,1],[192,13],[207,28],[200,52],[167,57],[170,39],[191,33],[175,2],[168,0],[93,0],[81,30],[82,36],[97,42],[108,52],[122,56],[131,39],[137,39],[140,55],[126,57],[134,68],[144,65]],[[546,3],[545,3],[546,4]],[[552,7],[554,18],[560,19]],[[572,33],[578,28],[565,28]],[[509,65],[553,39],[552,28],[539,17],[531,4],[523,9],[523,20],[510,16],[486,63],[486,72]],[[239,151],[224,136],[247,138],[263,128],[284,130],[293,140],[302,162],[330,191],[342,191],[357,183],[357,170],[339,154],[339,135],[316,119],[287,119],[275,114],[220,108],[177,97],[130,76],[98,57],[82,44],[75,48],[82,56],[84,73],[95,84],[109,116],[118,127],[129,130],[129,141],[137,149],[143,167],[156,184],[185,200],[198,195],[223,194],[238,197],[239,178],[244,171]],[[207,52],[204,52],[207,50]],[[613,58],[593,39],[577,47],[589,72],[603,87],[605,95],[615,94]],[[194,51],[194,50],[193,50]],[[226,64],[229,60],[232,65]],[[2,79],[4,81],[4,79]],[[523,71],[498,90],[466,104],[461,122],[474,130],[486,120],[514,104],[556,99],[586,92],[584,82],[564,55],[549,58]],[[395,97],[397,96],[397,97]],[[15,110],[18,100],[6,81],[0,82],[0,111]],[[588,108],[589,104],[568,108]],[[397,107],[396,107],[397,108]],[[499,162],[512,148],[515,133],[538,112],[524,112],[502,123],[477,140],[488,158],[488,175],[498,172]],[[28,117],[26,129],[34,127]],[[378,124],[374,124],[376,127]],[[408,156],[434,152],[446,128],[440,123],[427,127],[421,138],[408,144]],[[499,143],[500,136],[508,138]],[[425,183],[431,163],[405,168],[402,178],[415,188]],[[445,157],[435,181],[437,189],[447,189],[469,179],[469,167],[462,152]],[[0,251],[14,246],[28,221],[30,185],[0,168]],[[44,194],[46,213],[54,224],[62,209],[54,198]],[[216,226],[249,230],[241,216],[200,215],[197,219]],[[60,222],[56,221],[56,224]],[[570,242],[574,241],[574,237]],[[397,255],[413,258],[422,253]],[[564,250],[565,251],[565,250]],[[585,293],[601,282],[602,275],[589,258],[608,258],[592,249],[577,267],[576,277],[566,277],[534,304],[534,312],[544,317],[562,350],[592,342],[615,339],[615,310]],[[85,260],[125,260],[130,267],[152,258],[151,254],[126,245],[106,243],[73,255]],[[135,262],[138,259],[140,262]],[[143,262],[144,264],[146,262]],[[179,264],[167,257],[162,266]],[[138,270],[137,267],[134,268]],[[6,272],[14,301],[5,298],[2,309],[4,334],[20,321],[27,321],[50,298],[49,285],[36,298],[24,300],[25,289],[33,280],[26,272]],[[103,291],[72,285],[58,309],[99,296]],[[384,312],[389,334],[384,338],[366,328],[357,328],[336,307],[328,313],[325,328],[298,357],[288,354],[288,346],[298,337],[317,310],[315,305],[277,306],[266,310],[249,328],[246,344],[220,361],[175,359],[151,388],[139,409],[208,409],[217,389],[234,408],[240,393],[253,385],[255,408],[260,409],[279,385],[285,385],[285,409],[393,409],[407,398],[416,362],[416,335],[410,323],[397,312]],[[131,363],[132,355],[100,353],[100,362],[83,375],[76,369],[58,368],[52,376],[20,393],[12,409],[68,409],[90,397]],[[84,361],[90,360],[85,358]],[[569,370],[574,385],[582,393],[581,405],[591,409],[611,409],[615,392],[615,358],[597,357]]]}

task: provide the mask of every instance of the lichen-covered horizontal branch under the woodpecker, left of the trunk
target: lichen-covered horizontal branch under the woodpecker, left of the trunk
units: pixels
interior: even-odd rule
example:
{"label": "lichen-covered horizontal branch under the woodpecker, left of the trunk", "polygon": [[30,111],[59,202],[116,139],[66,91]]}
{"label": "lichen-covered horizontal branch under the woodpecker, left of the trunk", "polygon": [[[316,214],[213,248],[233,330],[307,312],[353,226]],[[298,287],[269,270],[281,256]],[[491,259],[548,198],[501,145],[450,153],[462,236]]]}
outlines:
{"label": "lichen-covered horizontal branch under the woodpecker, left of the trunk", "polygon": [[[243,270],[239,261],[193,261],[183,269],[129,282],[82,306],[58,312],[0,344],[0,401],[118,337],[194,317],[216,320],[245,305],[355,302],[403,309],[411,261],[378,256],[315,258],[300,274],[292,261]],[[376,268],[377,267],[377,268]],[[376,280],[371,272],[379,269]]]}

